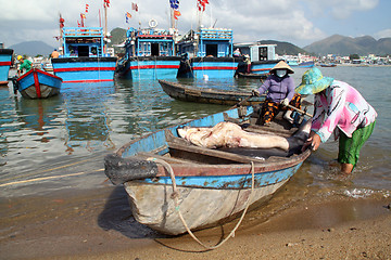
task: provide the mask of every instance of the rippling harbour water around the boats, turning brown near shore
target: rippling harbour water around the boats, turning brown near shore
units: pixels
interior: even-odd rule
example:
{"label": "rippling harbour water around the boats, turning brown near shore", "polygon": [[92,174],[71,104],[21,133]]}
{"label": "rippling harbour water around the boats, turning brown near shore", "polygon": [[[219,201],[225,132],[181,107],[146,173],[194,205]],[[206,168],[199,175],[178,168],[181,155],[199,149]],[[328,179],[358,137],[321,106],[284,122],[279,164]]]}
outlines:
{"label": "rippling harbour water around the boats, turning brown near shore", "polygon": [[[253,213],[254,218],[267,218],[303,200],[390,197],[391,67],[320,69],[325,76],[346,81],[361,91],[379,114],[375,131],[352,176],[341,177],[339,168],[332,166],[338,143],[328,141],[311,155],[266,210]],[[295,68],[297,84],[304,72]],[[249,91],[260,84],[255,79],[180,82]],[[173,100],[156,80],[63,86],[60,96],[48,100],[15,96],[10,82],[9,88],[0,89],[0,202],[112,188],[103,172],[105,154],[150,131],[227,108]]]}

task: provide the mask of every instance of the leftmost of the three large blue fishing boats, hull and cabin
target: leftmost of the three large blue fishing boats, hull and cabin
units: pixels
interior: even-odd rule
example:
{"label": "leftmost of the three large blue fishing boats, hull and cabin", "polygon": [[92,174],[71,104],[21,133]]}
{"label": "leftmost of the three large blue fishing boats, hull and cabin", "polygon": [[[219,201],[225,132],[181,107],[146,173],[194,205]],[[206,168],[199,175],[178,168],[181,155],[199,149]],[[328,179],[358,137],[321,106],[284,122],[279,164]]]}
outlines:
{"label": "leftmost of the three large blue fishing boats, hull and cabin", "polygon": [[116,57],[105,52],[102,27],[62,28],[63,54],[52,58],[53,73],[64,83],[114,80]]}

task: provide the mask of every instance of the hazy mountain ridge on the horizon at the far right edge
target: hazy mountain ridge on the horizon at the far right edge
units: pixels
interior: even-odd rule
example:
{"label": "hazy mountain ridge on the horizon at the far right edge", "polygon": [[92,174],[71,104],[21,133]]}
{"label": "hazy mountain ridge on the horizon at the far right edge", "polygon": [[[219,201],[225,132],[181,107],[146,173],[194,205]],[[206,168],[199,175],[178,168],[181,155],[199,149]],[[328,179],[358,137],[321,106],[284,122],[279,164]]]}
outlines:
{"label": "hazy mountain ridge on the horizon at the far right edge", "polygon": [[376,40],[370,36],[352,38],[341,35],[333,35],[324,40],[316,41],[310,46],[304,47],[304,50],[317,55],[387,55],[391,54],[391,38]]}

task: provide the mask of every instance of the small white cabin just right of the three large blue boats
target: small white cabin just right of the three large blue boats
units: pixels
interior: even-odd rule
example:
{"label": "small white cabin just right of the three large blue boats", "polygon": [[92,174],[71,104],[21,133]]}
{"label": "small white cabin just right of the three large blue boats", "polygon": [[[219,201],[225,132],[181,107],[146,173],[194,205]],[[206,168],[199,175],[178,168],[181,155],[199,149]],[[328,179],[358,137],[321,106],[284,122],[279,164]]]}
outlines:
{"label": "small white cabin just right of the three large blue boats", "polygon": [[274,61],[276,60],[277,44],[260,44],[260,42],[235,43],[235,49],[239,49],[242,55],[249,55],[251,62]]}

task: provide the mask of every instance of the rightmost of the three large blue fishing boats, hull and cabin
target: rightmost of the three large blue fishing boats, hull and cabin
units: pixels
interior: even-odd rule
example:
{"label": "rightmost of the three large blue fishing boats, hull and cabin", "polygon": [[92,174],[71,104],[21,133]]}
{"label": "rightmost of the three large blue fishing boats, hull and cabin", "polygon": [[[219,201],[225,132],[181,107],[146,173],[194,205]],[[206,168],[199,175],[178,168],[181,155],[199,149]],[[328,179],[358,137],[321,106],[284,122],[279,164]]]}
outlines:
{"label": "rightmost of the three large blue fishing boats, hull and cabin", "polygon": [[180,63],[178,77],[228,78],[234,77],[242,57],[232,56],[231,29],[204,28],[190,30],[177,43]]}

